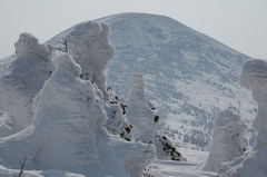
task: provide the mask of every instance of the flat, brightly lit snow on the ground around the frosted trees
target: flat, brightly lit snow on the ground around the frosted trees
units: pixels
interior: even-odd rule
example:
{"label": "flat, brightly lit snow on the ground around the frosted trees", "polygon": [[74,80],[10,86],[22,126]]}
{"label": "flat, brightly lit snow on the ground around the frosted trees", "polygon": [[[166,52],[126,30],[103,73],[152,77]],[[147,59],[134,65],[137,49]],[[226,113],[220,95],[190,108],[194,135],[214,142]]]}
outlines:
{"label": "flat, brightly lit snow on the ground around the frosted trees", "polygon": [[[155,160],[147,168],[147,174],[155,177],[218,177],[215,173],[199,171],[196,170],[196,166],[200,160],[207,157],[207,153],[180,149],[186,155],[188,161],[170,161],[170,160]],[[190,163],[189,163],[190,161]],[[19,165],[19,164],[18,164]],[[111,170],[111,169],[110,169]],[[18,175],[19,170],[8,169],[0,166],[0,175],[3,177],[13,177]],[[146,173],[145,173],[146,174]],[[60,170],[24,170],[23,176],[26,177],[85,177],[83,175],[72,174]],[[103,176],[101,176],[103,177]],[[108,175],[107,177],[110,177]],[[120,177],[120,176],[116,176]]]}

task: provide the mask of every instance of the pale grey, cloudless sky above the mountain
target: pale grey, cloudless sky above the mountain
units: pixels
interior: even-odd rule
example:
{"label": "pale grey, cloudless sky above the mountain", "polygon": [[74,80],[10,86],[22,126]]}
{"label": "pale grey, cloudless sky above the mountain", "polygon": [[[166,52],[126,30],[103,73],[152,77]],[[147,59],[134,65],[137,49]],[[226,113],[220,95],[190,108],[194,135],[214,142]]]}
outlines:
{"label": "pale grey, cloudless sky above the mountain", "polygon": [[0,0],[0,58],[14,53],[21,32],[44,42],[78,22],[121,12],[168,16],[267,59],[267,0]]}

